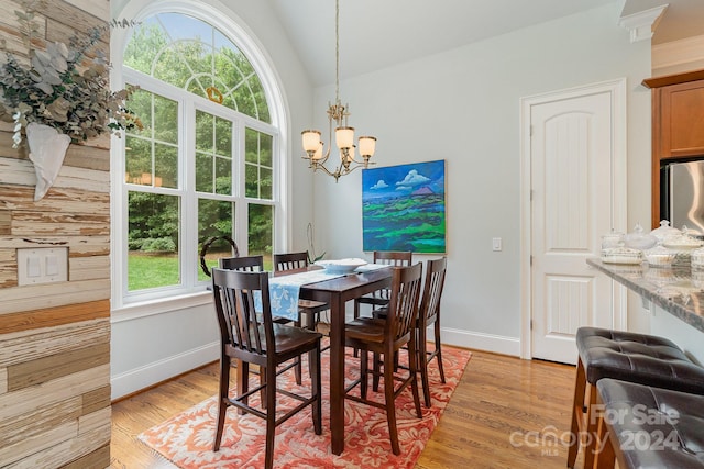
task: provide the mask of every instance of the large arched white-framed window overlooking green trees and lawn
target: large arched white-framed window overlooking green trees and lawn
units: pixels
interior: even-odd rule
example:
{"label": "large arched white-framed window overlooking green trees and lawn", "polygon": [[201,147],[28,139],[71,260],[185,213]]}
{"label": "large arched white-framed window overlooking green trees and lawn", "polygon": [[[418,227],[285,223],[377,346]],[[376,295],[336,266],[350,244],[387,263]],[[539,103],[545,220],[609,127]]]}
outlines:
{"label": "large arched white-framed window overlooking green trees and lawn", "polygon": [[[241,255],[268,259],[283,230],[275,80],[200,7],[162,3],[123,46],[121,78],[139,87],[128,105],[143,129],[122,137],[113,279],[122,303],[205,290],[204,243],[230,237]],[[230,249],[212,243],[208,264]]]}

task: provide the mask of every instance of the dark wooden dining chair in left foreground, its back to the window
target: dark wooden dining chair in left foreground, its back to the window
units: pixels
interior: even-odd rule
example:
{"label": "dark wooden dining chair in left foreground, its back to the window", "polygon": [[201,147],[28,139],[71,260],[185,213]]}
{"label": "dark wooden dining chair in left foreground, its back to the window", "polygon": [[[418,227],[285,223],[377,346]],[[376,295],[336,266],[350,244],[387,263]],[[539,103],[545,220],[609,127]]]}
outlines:
{"label": "dark wooden dining chair in left foreground, its back to the window", "polygon": [[[314,331],[275,323],[272,319],[268,272],[212,269],[212,291],[220,327],[220,386],[218,394],[218,420],[213,451],[220,449],[228,407],[240,413],[250,413],[266,421],[265,468],[274,462],[274,437],[276,427],[294,414],[310,405],[316,435],[322,433],[322,405],[320,380],[320,339],[322,334]],[[262,295],[261,313],[254,309],[254,292]],[[282,370],[295,366],[308,354],[310,360],[310,390],[283,391],[276,387]],[[230,368],[232,360],[242,364],[243,373],[238,383],[238,395],[230,398]],[[288,365],[285,365],[289,362]],[[249,389],[249,366],[257,365],[265,370],[266,380]],[[277,368],[280,366],[279,370]],[[264,390],[260,406],[250,404],[250,397]],[[295,405],[276,415],[277,393],[295,400]],[[298,401],[298,402],[296,402]]]}

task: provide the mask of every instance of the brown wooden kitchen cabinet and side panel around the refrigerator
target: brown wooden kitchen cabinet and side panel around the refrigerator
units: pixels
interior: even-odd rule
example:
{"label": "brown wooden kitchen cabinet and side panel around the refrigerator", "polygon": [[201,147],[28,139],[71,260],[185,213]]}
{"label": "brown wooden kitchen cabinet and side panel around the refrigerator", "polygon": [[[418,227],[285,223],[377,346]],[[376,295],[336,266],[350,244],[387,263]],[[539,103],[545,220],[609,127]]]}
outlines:
{"label": "brown wooden kitchen cabinet and side panel around the refrigerator", "polygon": [[644,80],[652,89],[652,217],[660,224],[660,169],[704,158],[704,70]]}

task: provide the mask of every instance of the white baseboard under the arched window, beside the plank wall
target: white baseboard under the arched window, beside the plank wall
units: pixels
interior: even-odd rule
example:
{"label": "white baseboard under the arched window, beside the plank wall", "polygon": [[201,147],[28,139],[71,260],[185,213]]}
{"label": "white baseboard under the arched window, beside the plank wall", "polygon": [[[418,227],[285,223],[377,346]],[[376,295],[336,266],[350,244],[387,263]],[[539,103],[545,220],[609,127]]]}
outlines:
{"label": "white baseboard under the arched window, beside the plank wall", "polygon": [[111,399],[120,399],[218,359],[220,359],[220,342],[213,342],[112,376],[110,378]]}

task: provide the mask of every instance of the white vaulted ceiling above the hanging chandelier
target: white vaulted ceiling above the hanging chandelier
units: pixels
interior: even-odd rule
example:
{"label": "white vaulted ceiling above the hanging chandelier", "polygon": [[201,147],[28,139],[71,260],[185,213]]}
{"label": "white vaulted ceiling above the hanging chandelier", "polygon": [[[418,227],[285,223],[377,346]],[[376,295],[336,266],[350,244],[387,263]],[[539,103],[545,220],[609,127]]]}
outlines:
{"label": "white vaulted ceiling above the hanging chandelier", "polygon": [[[334,81],[334,0],[270,0],[315,85]],[[580,11],[669,3],[653,43],[704,34],[704,0],[340,0],[340,76],[361,75]],[[698,31],[698,33],[697,33]]]}

